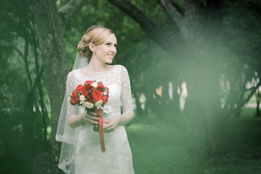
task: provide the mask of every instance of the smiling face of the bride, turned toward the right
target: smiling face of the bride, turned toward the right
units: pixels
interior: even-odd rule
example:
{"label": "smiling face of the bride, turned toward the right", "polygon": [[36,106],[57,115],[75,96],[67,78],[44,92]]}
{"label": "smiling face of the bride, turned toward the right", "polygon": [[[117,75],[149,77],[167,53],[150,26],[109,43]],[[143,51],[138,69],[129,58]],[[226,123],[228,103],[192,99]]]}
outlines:
{"label": "smiling face of the bride, turned toward the right", "polygon": [[100,61],[111,64],[117,52],[116,46],[117,39],[114,34],[110,34],[103,44],[95,46],[95,55]]}

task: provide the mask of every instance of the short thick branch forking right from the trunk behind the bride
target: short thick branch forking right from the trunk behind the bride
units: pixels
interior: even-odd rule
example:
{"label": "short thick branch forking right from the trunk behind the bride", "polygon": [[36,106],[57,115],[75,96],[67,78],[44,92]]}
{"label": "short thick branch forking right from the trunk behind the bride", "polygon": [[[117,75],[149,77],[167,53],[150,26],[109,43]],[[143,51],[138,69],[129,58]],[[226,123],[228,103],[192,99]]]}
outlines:
{"label": "short thick branch forking right from the trunk behind the bride", "polygon": [[82,6],[86,3],[87,0],[70,0],[66,5],[58,10],[62,14],[64,21],[68,21]]}

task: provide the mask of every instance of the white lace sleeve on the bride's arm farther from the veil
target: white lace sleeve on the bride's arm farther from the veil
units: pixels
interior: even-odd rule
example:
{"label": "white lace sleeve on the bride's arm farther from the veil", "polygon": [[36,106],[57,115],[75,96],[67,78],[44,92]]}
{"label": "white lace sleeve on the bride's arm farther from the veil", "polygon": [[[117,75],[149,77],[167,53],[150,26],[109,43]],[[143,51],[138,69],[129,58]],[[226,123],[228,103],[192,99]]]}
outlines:
{"label": "white lace sleeve on the bride's arm farther from the veil", "polygon": [[134,115],[131,96],[131,82],[125,66],[122,66],[121,68],[121,86],[121,102],[123,113],[128,110],[132,113],[132,115]]}

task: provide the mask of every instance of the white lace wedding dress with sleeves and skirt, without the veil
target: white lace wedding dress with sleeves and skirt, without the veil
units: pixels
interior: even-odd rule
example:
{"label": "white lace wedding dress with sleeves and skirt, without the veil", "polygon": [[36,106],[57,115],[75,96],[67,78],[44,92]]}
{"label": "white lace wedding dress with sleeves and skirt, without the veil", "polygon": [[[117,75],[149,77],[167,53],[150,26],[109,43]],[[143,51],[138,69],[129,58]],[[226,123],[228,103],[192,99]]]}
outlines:
{"label": "white lace wedding dress with sleeves and skirt, without the veil", "polygon": [[[67,83],[69,93],[86,80],[102,81],[109,88],[108,102],[104,105],[110,113],[102,112],[103,119],[121,115],[120,102],[124,112],[131,112],[133,105],[131,85],[127,69],[122,65],[114,65],[106,73],[95,73],[88,76],[81,70],[73,70],[68,74],[70,83]],[[84,112],[83,106],[68,105],[68,117]],[[105,126],[106,123],[103,124]],[[75,174],[133,174],[131,148],[123,125],[118,124],[114,131],[104,133],[106,151],[102,153],[99,132],[84,123],[81,126],[77,150],[75,155]],[[71,171],[70,171],[71,173]]]}

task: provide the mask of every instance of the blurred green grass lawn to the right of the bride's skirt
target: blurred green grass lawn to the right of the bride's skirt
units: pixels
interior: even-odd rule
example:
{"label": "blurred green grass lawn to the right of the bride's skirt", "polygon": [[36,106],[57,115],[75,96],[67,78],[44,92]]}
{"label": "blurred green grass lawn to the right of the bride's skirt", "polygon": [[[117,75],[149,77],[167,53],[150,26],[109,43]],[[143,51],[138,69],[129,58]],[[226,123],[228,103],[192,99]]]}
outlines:
{"label": "blurred green grass lawn to the right of the bride's skirt", "polygon": [[228,153],[192,155],[186,151],[182,127],[131,124],[126,128],[136,174],[253,174],[261,173],[261,118],[246,108],[240,118],[226,123]]}

